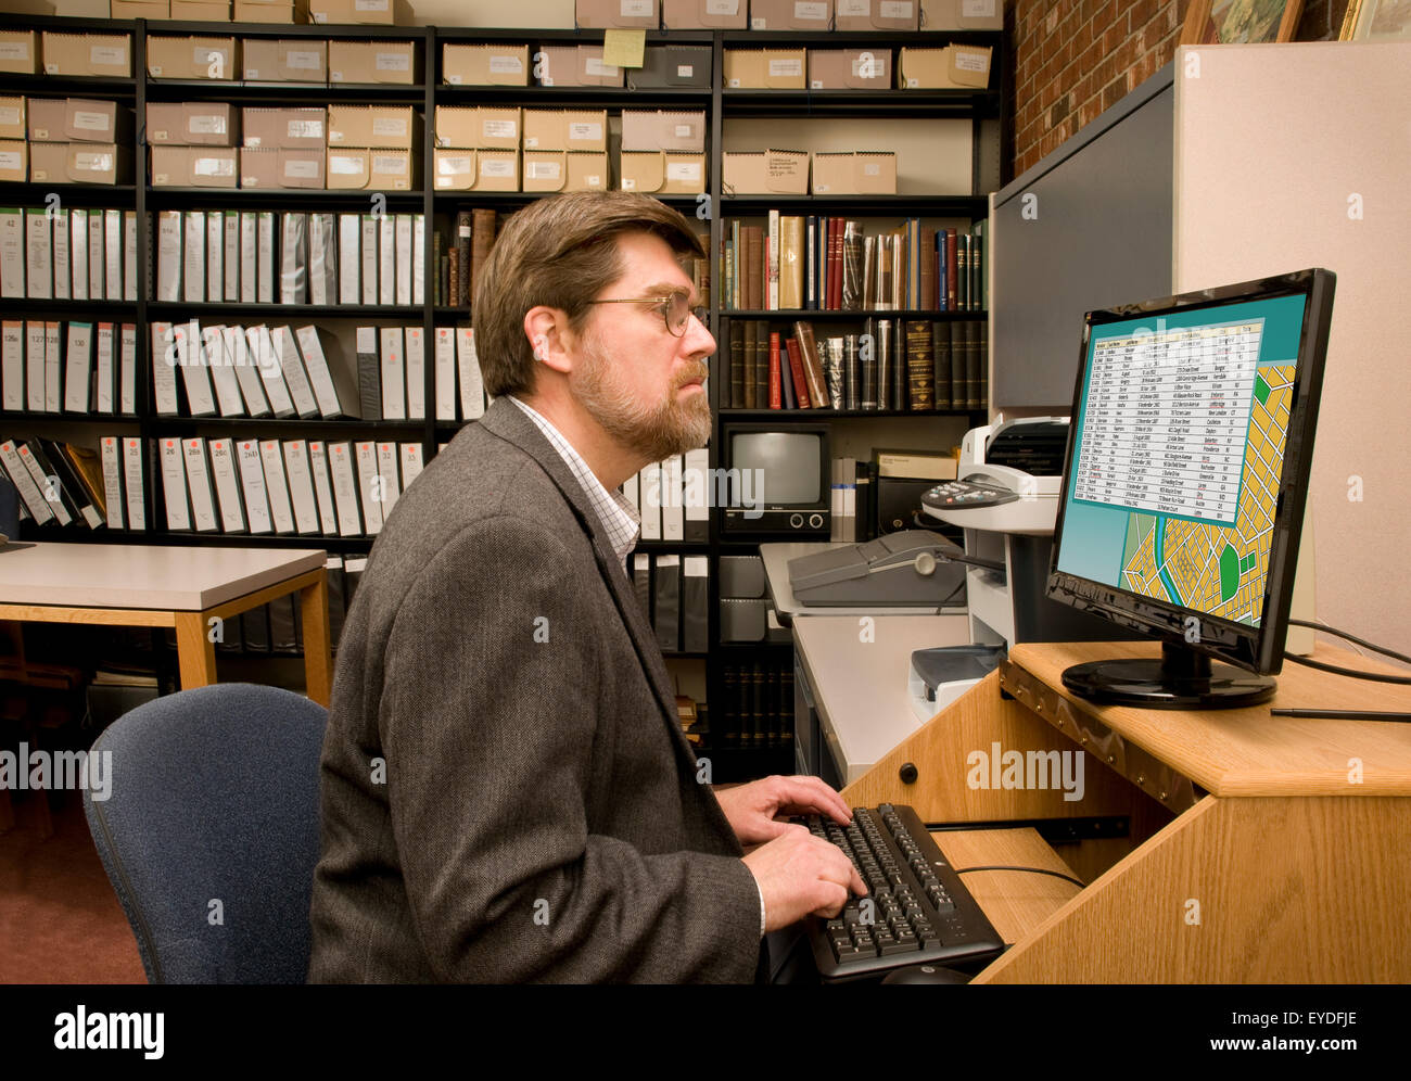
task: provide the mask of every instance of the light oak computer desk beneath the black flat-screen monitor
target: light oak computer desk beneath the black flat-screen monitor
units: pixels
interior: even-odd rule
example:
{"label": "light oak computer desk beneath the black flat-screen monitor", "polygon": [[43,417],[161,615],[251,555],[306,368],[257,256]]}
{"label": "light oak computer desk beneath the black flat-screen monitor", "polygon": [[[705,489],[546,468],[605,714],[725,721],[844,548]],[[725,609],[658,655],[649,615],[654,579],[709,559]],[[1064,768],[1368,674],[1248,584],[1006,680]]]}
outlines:
{"label": "light oak computer desk beneath the black flat-screen monitor", "polygon": [[[1411,725],[1280,718],[1268,706],[1094,706],[1062,689],[1070,665],[1157,652],[1136,642],[1016,646],[844,799],[910,803],[923,821],[1129,816],[1127,837],[1062,850],[1089,882],[1068,886],[1067,900],[1048,893],[1006,909],[986,896],[1005,885],[967,876],[1013,943],[976,982],[1411,981]],[[1326,646],[1315,656],[1394,670]],[[1408,703],[1405,687],[1285,665],[1271,704]],[[1084,797],[1064,800],[1054,786],[971,787],[968,758],[996,742],[1006,752],[1081,751]],[[917,768],[910,785],[903,762]],[[937,841],[957,862],[1017,862],[995,858],[979,831]]]}

